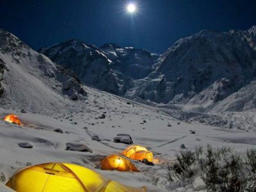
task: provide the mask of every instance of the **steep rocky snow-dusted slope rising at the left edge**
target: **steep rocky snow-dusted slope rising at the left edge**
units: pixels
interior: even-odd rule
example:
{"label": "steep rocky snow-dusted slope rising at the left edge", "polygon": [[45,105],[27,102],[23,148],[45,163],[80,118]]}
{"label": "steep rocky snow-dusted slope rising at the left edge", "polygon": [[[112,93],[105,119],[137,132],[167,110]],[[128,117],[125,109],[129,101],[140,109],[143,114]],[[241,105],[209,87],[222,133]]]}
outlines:
{"label": "steep rocky snow-dusted slope rising at the left edge", "polygon": [[[85,99],[83,84],[73,72],[52,63],[28,45],[0,29],[1,104],[42,113]],[[36,102],[34,102],[36,101]],[[53,109],[53,110],[54,110]]]}

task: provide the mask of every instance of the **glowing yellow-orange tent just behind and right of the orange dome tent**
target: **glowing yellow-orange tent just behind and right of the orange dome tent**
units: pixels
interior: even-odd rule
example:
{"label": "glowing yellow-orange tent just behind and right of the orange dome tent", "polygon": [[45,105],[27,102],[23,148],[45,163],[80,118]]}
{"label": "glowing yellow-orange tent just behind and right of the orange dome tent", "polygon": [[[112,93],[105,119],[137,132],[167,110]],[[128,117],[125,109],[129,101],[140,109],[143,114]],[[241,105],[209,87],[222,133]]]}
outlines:
{"label": "glowing yellow-orange tent just behind and right of the orange dome tent", "polygon": [[148,162],[153,161],[153,154],[147,148],[141,147],[140,145],[132,145],[130,147],[125,148],[123,155],[139,161],[143,161],[143,159],[147,159]]}

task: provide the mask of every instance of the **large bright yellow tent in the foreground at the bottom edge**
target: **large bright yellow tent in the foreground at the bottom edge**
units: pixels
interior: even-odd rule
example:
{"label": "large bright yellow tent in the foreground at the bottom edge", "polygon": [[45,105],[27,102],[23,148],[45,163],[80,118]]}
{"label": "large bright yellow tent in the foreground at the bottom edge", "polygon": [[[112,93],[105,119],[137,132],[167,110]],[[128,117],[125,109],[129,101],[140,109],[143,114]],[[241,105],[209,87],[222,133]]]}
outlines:
{"label": "large bright yellow tent in the foreground at the bottom edge", "polygon": [[6,186],[17,192],[144,192],[124,186],[88,168],[69,163],[45,163],[18,171]]}

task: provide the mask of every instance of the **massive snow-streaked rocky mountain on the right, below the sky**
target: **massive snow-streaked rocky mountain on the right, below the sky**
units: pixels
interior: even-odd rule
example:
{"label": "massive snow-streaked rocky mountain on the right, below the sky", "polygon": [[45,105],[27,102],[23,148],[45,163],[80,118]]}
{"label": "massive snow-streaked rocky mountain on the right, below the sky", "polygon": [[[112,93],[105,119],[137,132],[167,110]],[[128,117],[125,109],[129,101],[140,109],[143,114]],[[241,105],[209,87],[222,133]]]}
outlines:
{"label": "massive snow-streaked rocky mountain on the right, below the sky", "polygon": [[164,52],[156,70],[135,82],[127,96],[207,107],[255,77],[255,26],[248,31],[200,31]]}

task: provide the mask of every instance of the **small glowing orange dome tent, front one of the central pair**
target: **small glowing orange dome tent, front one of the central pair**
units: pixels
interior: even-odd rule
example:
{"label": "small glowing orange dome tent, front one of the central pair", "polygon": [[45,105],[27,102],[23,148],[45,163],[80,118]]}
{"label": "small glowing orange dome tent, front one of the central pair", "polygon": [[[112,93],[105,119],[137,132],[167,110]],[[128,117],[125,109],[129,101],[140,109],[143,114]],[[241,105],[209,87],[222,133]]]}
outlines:
{"label": "small glowing orange dome tent, front one of the central pair", "polygon": [[118,155],[110,155],[103,159],[100,163],[102,170],[118,170],[120,172],[138,172],[139,170],[128,159]]}

